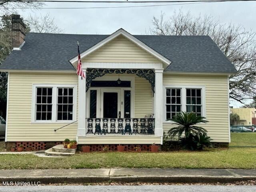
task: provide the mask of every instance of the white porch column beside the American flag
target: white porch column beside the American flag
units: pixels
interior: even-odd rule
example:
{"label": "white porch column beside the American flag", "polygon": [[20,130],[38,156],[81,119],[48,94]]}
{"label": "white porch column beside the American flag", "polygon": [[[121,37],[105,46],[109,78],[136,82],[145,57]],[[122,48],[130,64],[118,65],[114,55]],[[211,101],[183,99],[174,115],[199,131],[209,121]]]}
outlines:
{"label": "white porch column beside the American flag", "polygon": [[[86,69],[83,69],[86,74]],[[86,76],[86,75],[85,75]],[[77,136],[86,135],[85,109],[86,106],[86,79],[78,76],[78,129]]]}

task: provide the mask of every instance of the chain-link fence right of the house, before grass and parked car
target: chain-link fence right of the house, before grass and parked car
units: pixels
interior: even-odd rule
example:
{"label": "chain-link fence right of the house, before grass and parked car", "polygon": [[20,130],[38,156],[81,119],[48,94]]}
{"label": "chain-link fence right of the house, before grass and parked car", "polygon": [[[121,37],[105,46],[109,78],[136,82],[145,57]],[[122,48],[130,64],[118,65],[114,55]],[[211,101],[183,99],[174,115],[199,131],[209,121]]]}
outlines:
{"label": "chain-link fence right of the house, before grass and parked car", "polygon": [[230,147],[256,147],[256,126],[230,126]]}

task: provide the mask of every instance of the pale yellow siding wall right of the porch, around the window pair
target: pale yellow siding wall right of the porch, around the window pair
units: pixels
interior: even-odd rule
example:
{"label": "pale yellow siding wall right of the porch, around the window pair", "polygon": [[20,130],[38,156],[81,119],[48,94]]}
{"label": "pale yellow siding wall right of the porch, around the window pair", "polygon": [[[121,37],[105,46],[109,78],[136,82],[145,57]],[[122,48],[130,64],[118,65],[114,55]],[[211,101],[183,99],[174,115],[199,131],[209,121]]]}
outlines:
{"label": "pale yellow siding wall right of the porch, around the window pair", "polygon": [[[213,142],[229,142],[228,81],[226,75],[177,75],[164,74],[164,85],[199,85],[206,89],[207,124],[202,124]],[[164,131],[173,127],[164,123]],[[201,125],[200,125],[201,126]]]}

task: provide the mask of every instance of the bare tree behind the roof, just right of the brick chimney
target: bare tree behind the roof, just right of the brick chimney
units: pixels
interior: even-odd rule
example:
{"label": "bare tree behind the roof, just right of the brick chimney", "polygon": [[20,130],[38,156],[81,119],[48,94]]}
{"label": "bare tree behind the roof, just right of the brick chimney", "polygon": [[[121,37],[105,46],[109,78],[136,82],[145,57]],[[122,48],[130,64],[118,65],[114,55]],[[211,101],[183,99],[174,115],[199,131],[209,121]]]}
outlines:
{"label": "bare tree behind the roof, just right of the brick chimney", "polygon": [[62,33],[63,30],[60,29],[54,22],[54,18],[50,16],[49,13],[46,15],[40,16],[28,16],[25,20],[27,24],[27,28],[30,32],[37,32],[37,33]]}

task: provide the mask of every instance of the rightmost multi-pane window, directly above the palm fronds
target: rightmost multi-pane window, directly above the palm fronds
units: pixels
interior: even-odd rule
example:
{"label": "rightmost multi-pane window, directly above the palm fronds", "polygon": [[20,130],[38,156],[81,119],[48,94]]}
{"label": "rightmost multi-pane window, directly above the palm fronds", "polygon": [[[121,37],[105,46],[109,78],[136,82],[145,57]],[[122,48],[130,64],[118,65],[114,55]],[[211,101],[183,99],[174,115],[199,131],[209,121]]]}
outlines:
{"label": "rightmost multi-pane window, directly above the palm fronds", "polygon": [[202,89],[186,89],[186,111],[202,116]]}

